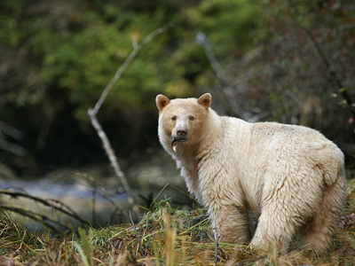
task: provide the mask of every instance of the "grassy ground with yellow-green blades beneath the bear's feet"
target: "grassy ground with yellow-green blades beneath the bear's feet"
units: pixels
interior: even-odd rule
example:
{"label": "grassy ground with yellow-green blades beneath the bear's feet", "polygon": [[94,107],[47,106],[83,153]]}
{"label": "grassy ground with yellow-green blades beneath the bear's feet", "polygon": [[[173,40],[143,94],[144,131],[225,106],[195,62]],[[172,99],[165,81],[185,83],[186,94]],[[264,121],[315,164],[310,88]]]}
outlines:
{"label": "grassy ground with yellow-green blades beneath the bear's feet", "polygon": [[[0,265],[213,265],[216,245],[204,214],[201,208],[174,209],[165,200],[135,228],[120,224],[56,239],[19,228],[2,213]],[[217,265],[355,265],[355,179],[348,185],[341,228],[325,256],[219,243]]]}

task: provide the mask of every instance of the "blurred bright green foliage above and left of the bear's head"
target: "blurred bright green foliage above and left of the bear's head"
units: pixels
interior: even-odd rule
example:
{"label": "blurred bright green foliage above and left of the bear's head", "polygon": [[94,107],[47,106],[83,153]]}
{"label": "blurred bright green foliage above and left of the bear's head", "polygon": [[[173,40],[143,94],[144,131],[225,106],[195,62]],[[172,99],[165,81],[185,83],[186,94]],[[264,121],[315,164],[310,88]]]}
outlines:
{"label": "blurred bright green foliage above and left of the bear's head", "polygon": [[[250,31],[256,27],[256,14],[260,13],[256,4],[242,0],[192,4],[150,1],[149,5],[139,1],[35,2],[1,4],[4,51],[20,53],[19,65],[8,66],[4,72],[15,72],[14,82],[0,76],[8,89],[0,101],[2,106],[8,102],[28,105],[56,101],[48,97],[53,90],[63,90],[69,103],[86,111],[129,55],[132,38],[140,41],[170,22],[175,23],[174,28],[140,52],[106,105],[113,110],[130,107],[139,113],[146,108],[146,98],[159,92],[191,95],[196,80],[201,79],[201,67],[209,67],[201,47],[194,43],[194,35],[206,31],[211,42],[218,44],[216,52],[221,58],[231,52],[240,54],[250,43]],[[4,54],[5,62],[13,60]],[[34,95],[32,99],[13,97],[15,91],[17,95],[28,96],[28,91]]]}

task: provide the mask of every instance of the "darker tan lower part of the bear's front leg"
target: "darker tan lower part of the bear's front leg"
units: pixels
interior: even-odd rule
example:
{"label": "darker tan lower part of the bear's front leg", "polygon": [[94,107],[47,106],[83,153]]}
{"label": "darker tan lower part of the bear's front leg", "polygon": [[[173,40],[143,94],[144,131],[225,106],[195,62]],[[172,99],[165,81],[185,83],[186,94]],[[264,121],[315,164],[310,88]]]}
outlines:
{"label": "darker tan lower part of the bear's front leg", "polygon": [[221,241],[242,244],[250,242],[248,212],[244,207],[209,206],[209,218],[212,229],[217,229]]}

